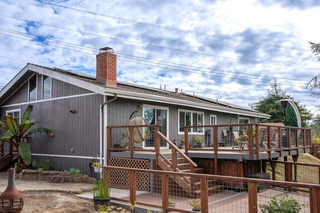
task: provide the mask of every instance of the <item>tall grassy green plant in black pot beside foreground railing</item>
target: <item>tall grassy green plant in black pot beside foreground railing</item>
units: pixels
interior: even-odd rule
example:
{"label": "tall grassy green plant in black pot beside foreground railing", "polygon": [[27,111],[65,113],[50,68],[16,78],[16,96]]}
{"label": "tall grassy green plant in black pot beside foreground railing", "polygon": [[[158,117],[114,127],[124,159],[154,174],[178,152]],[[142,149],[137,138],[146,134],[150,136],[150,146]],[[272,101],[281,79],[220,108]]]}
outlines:
{"label": "tall grassy green plant in black pot beside foreground railing", "polygon": [[104,184],[104,180],[100,179],[93,183],[93,205],[95,211],[99,206],[110,206],[111,183]]}

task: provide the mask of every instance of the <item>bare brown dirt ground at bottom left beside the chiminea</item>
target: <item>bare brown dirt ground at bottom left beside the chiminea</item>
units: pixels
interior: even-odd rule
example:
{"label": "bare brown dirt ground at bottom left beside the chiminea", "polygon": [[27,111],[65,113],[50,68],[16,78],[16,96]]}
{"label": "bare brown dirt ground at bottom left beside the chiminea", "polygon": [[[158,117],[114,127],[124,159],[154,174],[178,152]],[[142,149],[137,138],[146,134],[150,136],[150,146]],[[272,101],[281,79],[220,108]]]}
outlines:
{"label": "bare brown dirt ground at bottom left beside the chiminea", "polygon": [[[0,172],[7,179],[7,172]],[[92,213],[93,202],[68,193],[21,192],[22,213]]]}

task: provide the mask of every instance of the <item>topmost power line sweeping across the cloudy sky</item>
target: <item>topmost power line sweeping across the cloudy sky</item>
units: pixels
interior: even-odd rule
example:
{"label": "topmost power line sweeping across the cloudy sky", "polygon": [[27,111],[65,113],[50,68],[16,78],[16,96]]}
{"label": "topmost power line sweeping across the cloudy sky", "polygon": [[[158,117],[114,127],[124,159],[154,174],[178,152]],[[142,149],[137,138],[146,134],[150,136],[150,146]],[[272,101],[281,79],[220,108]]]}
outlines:
{"label": "topmost power line sweeping across the cloudy sky", "polygon": [[146,22],[142,22],[142,21],[136,21],[136,20],[126,19],[126,18],[115,17],[115,16],[111,16],[111,15],[100,14],[100,13],[97,13],[97,12],[91,12],[91,11],[87,11],[87,10],[76,9],[76,8],[62,6],[62,5],[59,5],[59,4],[49,3],[49,2],[40,1],[40,0],[34,0],[34,1],[38,1],[38,2],[41,2],[41,3],[45,3],[45,4],[50,4],[50,5],[54,5],[54,6],[58,6],[58,7],[63,7],[63,8],[66,8],[66,9],[72,9],[72,10],[75,10],[75,11],[85,12],[85,13],[89,13],[89,14],[93,14],[93,15],[108,17],[108,18],[112,18],[112,19],[116,19],[116,20],[122,20],[122,21],[142,24],[142,25],[156,27],[156,28],[162,28],[162,29],[168,29],[168,30],[173,30],[173,31],[178,31],[178,32],[184,32],[184,33],[188,33],[188,34],[195,34],[195,35],[213,37],[213,38],[222,39],[222,40],[230,40],[230,41],[249,43],[249,44],[261,45],[261,46],[270,46],[270,47],[275,47],[275,48],[292,49],[292,50],[299,50],[299,51],[310,51],[308,49],[301,49],[301,48],[288,47],[288,46],[280,46],[280,45],[275,45],[275,44],[268,44],[268,43],[261,43],[261,42],[255,42],[255,41],[249,41],[249,40],[242,40],[242,39],[230,38],[230,37],[225,37],[225,36],[210,35],[210,34],[201,33],[201,32],[183,30],[183,29],[178,29],[178,28],[174,28],[174,27],[162,26],[162,25],[146,23]]}

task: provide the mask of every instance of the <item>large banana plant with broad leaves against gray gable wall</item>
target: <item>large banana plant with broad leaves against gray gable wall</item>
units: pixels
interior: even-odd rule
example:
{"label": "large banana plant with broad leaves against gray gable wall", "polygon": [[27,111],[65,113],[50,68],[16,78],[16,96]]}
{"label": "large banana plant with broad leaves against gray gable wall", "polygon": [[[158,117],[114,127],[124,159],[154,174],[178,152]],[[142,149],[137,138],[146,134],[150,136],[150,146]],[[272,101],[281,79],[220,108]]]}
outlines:
{"label": "large banana plant with broad leaves against gray gable wall", "polygon": [[12,143],[17,150],[18,167],[21,169],[26,169],[31,164],[30,145],[23,140],[37,132],[54,136],[54,133],[47,128],[40,127],[30,130],[33,124],[40,123],[35,119],[29,119],[32,108],[32,105],[26,108],[20,124],[12,116],[4,116],[3,121],[0,121],[0,130],[4,132],[4,136],[0,136],[0,143]]}

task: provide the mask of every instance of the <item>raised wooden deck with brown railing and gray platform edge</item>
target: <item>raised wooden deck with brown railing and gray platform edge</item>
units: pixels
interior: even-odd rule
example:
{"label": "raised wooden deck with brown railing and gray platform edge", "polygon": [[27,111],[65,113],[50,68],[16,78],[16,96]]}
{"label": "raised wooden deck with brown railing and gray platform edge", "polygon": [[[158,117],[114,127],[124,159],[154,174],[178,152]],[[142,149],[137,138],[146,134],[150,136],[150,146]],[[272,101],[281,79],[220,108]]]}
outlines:
{"label": "raised wooden deck with brown railing and gray platform edge", "polygon": [[[204,125],[204,126],[187,126],[184,127],[185,149],[179,149],[170,139],[163,136],[158,131],[158,125],[140,125],[140,126],[112,126],[107,127],[107,156],[127,156],[129,152],[130,158],[141,157],[142,154],[151,155],[151,153],[162,153],[164,155],[172,155],[178,152],[185,154],[188,157],[211,158],[211,159],[238,159],[243,157],[244,160],[263,160],[277,157],[294,156],[302,153],[310,153],[311,145],[311,130],[308,128],[296,128],[285,126],[268,126],[263,124],[238,124],[232,125],[233,130],[237,129],[236,135],[244,134],[244,129],[247,129],[247,141],[236,141],[236,136],[223,135],[229,128],[229,125]],[[129,138],[129,148],[116,147],[115,134],[128,129],[133,134],[134,129],[149,128],[153,133],[148,143],[154,144],[154,147],[142,149],[142,143],[134,143],[133,137]],[[201,137],[203,137],[203,148],[195,148],[194,137],[197,134],[191,134],[189,129],[201,129]],[[207,134],[207,133],[212,134]],[[238,137],[237,136],[237,137]],[[180,137],[180,136],[179,136]],[[205,137],[205,140],[204,140]],[[171,151],[161,149],[171,147]],[[205,147],[204,147],[205,146]],[[120,153],[115,153],[119,152]],[[126,151],[126,152],[123,152]],[[112,154],[111,154],[112,153]],[[156,154],[157,155],[157,154]],[[174,156],[175,154],[173,154]],[[155,157],[154,157],[155,158]],[[149,158],[152,159],[152,158]]]}

